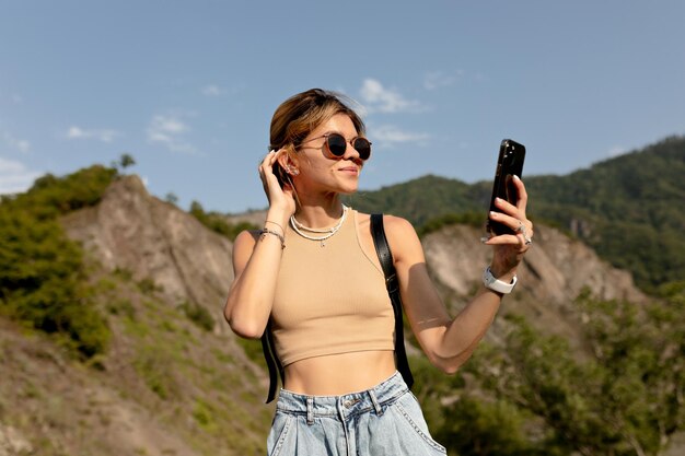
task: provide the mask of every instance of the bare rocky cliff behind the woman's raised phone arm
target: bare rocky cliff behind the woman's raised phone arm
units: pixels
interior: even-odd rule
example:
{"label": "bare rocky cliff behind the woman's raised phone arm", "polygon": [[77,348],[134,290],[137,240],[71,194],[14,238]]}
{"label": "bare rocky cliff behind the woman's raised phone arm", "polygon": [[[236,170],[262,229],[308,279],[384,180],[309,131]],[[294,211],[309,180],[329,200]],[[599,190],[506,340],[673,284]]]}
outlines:
{"label": "bare rocky cliff behind the woman's raised phone arm", "polygon": [[[422,241],[426,260],[445,301],[458,308],[479,283],[489,264],[490,248],[479,239],[483,232],[468,225],[446,226]],[[507,296],[501,314],[526,316],[537,328],[567,337],[580,347],[573,301],[583,290],[603,300],[640,302],[646,296],[626,271],[617,270],[579,241],[556,229],[536,226],[535,239],[519,271],[519,284]],[[497,338],[501,321],[489,332]]]}

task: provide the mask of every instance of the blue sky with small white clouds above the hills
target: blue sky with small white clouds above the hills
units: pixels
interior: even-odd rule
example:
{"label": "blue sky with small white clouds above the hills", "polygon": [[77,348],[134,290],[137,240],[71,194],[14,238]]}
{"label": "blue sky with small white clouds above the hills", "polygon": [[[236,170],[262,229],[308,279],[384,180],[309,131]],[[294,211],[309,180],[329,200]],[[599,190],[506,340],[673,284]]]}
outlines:
{"label": "blue sky with small white clouds above the hills", "polygon": [[360,188],[588,167],[685,135],[685,2],[0,0],[0,194],[127,153],[178,206],[266,207],[276,107],[357,103]]}

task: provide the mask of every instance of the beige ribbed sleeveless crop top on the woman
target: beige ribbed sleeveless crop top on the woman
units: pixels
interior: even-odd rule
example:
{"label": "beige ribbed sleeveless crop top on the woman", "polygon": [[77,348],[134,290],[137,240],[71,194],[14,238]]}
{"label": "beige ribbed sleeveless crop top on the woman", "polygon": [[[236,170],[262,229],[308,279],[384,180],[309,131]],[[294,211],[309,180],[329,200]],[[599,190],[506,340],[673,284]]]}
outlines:
{"label": "beige ribbed sleeveless crop top on the woman", "polygon": [[351,209],[323,247],[287,227],[271,309],[282,365],[327,354],[394,350],[395,319],[383,271],[362,250],[357,231],[357,211]]}

